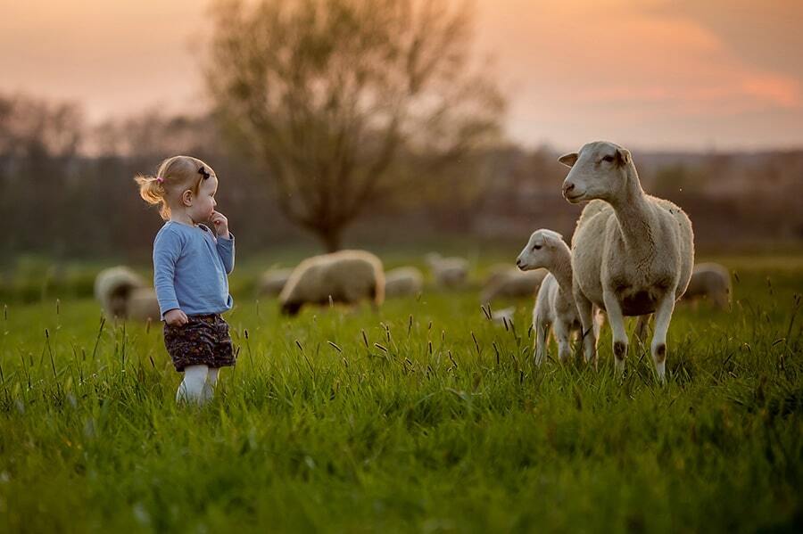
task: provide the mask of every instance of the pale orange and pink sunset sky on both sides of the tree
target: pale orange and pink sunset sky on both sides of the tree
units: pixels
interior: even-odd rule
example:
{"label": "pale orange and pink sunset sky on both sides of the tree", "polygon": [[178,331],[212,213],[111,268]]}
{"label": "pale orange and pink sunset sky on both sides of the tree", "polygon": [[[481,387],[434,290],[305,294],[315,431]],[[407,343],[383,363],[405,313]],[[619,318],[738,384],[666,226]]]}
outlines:
{"label": "pale orange and pink sunset sky on both sides of the tree", "polygon": [[[0,0],[0,92],[193,111],[205,5]],[[476,32],[522,144],[803,146],[803,0],[477,0]]]}

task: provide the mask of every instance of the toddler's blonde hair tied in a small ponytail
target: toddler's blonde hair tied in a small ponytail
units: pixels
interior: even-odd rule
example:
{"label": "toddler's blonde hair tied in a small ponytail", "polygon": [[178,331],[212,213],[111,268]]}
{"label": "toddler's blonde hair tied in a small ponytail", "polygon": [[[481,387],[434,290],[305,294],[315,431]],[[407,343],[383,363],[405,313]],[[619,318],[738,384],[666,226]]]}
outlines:
{"label": "toddler's blonde hair tied in a small ponytail", "polygon": [[170,218],[170,203],[168,199],[175,194],[184,193],[190,189],[198,194],[204,177],[215,175],[215,171],[202,160],[192,156],[173,156],[161,162],[156,176],[137,175],[134,181],[139,185],[139,196],[151,205],[159,205],[159,215],[164,220]]}

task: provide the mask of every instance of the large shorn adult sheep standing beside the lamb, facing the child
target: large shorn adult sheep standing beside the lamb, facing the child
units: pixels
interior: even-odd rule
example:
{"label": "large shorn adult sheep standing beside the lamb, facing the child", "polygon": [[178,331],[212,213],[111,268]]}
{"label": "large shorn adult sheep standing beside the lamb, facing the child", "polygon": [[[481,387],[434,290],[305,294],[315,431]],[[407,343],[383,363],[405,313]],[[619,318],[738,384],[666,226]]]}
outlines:
{"label": "large shorn adult sheep standing beside the lamb, facing the child", "polygon": [[672,202],[644,193],[630,152],[617,144],[585,144],[559,161],[571,167],[563,196],[573,204],[591,201],[572,239],[574,296],[585,357],[596,362],[593,305],[607,312],[620,372],[627,354],[624,317],[654,312],[650,352],[663,382],[666,332],[694,264],[691,221]]}

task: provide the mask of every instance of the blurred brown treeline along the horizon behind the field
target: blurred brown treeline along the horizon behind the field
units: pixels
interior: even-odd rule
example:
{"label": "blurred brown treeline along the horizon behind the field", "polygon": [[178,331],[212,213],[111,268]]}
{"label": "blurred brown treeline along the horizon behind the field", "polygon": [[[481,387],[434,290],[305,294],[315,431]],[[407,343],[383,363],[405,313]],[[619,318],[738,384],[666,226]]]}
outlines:
{"label": "blurred brown treeline along the horizon behind the field", "polygon": [[[269,250],[300,240],[314,246],[275,208],[269,169],[228,150],[212,117],[150,112],[87,127],[78,106],[0,95],[4,259],[19,253],[146,259],[161,220],[139,199],[132,178],[153,173],[176,153],[215,168],[219,208],[241,246]],[[459,168],[400,175],[404,187],[377,194],[346,245],[359,239],[387,246],[395,237],[410,242],[417,235],[431,241],[437,234],[523,242],[537,227],[568,237],[578,208],[560,197],[567,168],[557,155],[548,147],[506,145],[472,155],[466,165],[473,172],[465,175]],[[634,150],[633,157],[645,190],[687,209],[703,246],[803,240],[803,151]]]}

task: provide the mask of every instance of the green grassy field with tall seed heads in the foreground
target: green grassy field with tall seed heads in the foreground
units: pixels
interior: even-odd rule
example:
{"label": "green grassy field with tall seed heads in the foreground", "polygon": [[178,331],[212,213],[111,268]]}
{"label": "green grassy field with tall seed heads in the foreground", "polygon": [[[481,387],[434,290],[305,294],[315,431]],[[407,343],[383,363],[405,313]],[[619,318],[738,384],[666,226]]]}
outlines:
{"label": "green grassy field with tall seed heads in the foreground", "polygon": [[720,260],[733,311],[677,308],[666,386],[634,345],[617,378],[607,327],[599,371],[534,367],[526,300],[506,330],[476,291],[295,320],[242,291],[236,368],[177,407],[160,325],[12,302],[0,530],[800,531],[803,261]]}

